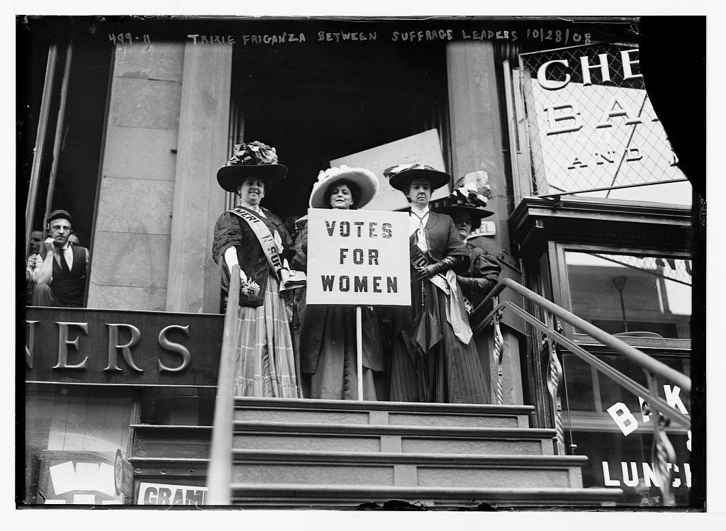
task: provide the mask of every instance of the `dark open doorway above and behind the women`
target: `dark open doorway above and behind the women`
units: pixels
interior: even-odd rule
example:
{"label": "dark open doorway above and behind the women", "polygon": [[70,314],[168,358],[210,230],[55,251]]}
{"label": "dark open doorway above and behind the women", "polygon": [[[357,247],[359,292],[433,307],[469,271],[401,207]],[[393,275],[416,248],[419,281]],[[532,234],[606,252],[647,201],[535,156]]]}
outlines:
{"label": "dark open doorway above and behind the women", "polygon": [[272,145],[290,169],[264,200],[283,219],[306,213],[317,174],[332,159],[438,129],[448,163],[442,46],[236,46],[232,68],[232,108],[241,123],[234,141]]}

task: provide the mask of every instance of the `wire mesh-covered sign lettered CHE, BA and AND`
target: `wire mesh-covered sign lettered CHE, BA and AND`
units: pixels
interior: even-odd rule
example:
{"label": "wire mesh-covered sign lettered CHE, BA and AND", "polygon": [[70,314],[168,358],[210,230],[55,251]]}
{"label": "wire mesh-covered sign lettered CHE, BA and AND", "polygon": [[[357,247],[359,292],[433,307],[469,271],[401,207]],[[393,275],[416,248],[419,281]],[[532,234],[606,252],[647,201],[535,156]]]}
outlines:
{"label": "wire mesh-covered sign lettered CHE, BA and AND", "polygon": [[519,57],[537,195],[685,179],[645,91],[637,47]]}

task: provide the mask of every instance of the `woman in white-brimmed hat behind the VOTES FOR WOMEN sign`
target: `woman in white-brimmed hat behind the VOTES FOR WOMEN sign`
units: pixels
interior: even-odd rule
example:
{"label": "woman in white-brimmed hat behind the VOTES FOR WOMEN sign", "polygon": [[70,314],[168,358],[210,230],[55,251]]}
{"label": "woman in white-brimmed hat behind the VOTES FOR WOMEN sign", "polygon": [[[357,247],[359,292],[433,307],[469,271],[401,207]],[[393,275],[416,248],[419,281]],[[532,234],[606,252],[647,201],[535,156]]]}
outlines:
{"label": "woman in white-brimmed hat behind the VOTES FOR WOMEN sign", "polygon": [[[378,179],[362,168],[321,171],[310,194],[310,208],[361,208],[378,192]],[[303,269],[306,233],[293,266]],[[304,310],[300,333],[300,371],[305,397],[358,400],[356,371],[356,314],[352,307],[311,306]],[[383,344],[378,315],[362,311],[363,399],[384,400]]]}

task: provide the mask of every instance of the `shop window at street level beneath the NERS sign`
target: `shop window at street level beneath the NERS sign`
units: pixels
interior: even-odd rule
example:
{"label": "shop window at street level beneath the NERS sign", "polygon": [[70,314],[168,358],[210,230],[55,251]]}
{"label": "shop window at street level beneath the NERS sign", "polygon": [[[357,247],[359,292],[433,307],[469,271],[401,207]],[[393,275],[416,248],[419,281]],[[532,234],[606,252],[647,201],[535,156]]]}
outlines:
{"label": "shop window at street level beneath the NERS sign", "polygon": [[108,505],[118,450],[128,458],[129,392],[39,386],[25,394],[25,503]]}

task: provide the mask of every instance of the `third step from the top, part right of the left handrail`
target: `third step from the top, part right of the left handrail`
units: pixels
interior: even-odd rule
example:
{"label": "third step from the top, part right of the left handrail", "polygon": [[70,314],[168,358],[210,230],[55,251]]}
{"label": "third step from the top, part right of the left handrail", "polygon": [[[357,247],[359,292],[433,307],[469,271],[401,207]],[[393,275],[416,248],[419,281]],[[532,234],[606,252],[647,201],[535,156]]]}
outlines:
{"label": "third step from the top, part right of the left handrail", "polygon": [[232,482],[400,487],[582,487],[582,455],[234,450]]}

